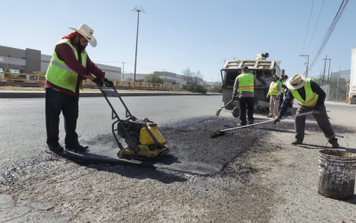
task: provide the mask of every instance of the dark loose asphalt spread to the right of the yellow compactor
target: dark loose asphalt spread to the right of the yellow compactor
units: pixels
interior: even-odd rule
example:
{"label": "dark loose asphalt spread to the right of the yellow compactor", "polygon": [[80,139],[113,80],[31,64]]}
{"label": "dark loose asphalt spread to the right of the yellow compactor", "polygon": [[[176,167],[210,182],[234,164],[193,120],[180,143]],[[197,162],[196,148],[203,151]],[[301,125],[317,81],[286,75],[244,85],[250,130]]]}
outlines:
{"label": "dark loose asphalt spread to the right of the yellow compactor", "polygon": [[189,126],[161,128],[170,147],[169,154],[177,161],[204,163],[222,169],[241,153],[246,152],[269,133],[256,128],[227,132],[225,136],[211,138],[218,129],[234,128],[235,120],[206,120]]}

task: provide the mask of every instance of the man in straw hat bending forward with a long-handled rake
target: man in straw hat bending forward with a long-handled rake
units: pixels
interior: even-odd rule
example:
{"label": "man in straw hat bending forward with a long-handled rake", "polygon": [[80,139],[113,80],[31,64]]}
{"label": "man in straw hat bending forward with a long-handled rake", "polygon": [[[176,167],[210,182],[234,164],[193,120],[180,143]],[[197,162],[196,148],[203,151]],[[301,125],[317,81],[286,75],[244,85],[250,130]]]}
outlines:
{"label": "man in straw hat bending forward with a long-handled rake", "polygon": [[[312,115],[318,122],[324,135],[328,138],[328,143],[334,148],[338,148],[339,144],[337,143],[336,135],[328,120],[328,114],[324,104],[326,94],[320,86],[311,78],[305,78],[302,75],[295,74],[295,76],[287,81],[287,87],[289,91],[280,107],[278,116],[274,119],[274,123],[279,121],[283,113],[287,111],[292,99],[295,98],[299,102],[296,114],[313,111]],[[295,141],[292,145],[303,144],[305,118],[305,115],[295,117]]]}

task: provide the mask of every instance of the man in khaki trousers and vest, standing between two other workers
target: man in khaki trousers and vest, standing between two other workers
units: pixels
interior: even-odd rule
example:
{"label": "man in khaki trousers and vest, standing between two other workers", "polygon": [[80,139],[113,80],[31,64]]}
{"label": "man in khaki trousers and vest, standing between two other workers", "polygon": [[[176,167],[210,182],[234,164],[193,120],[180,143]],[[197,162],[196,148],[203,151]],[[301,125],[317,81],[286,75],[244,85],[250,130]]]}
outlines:
{"label": "man in khaki trousers and vest, standing between two other workers", "polygon": [[271,96],[270,114],[267,116],[267,118],[277,117],[279,111],[279,99],[280,95],[282,94],[282,84],[279,81],[279,77],[274,74],[272,76],[272,79],[273,81],[271,82],[270,90],[268,91],[266,96],[267,99]]}

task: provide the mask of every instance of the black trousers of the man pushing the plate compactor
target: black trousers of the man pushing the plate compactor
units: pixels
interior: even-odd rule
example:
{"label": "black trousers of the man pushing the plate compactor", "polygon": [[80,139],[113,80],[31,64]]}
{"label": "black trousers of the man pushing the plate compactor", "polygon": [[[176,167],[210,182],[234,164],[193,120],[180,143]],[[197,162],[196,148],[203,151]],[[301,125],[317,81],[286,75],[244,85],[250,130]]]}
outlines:
{"label": "black trousers of the man pushing the plate compactor", "polygon": [[79,96],[71,96],[49,87],[45,89],[45,127],[47,145],[59,145],[60,115],[63,113],[66,145],[79,145],[77,139],[77,117]]}

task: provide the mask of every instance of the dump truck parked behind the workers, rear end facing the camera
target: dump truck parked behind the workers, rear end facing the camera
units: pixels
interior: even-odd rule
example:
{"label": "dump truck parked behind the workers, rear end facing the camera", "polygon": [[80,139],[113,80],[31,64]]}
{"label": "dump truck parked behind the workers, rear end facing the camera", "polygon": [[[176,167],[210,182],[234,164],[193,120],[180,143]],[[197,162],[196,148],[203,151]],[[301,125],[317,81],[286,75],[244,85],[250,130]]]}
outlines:
{"label": "dump truck parked behind the workers, rear end facing the camera", "polygon": [[[241,73],[243,66],[248,66],[248,69],[257,78],[259,85],[255,87],[255,103],[258,102],[268,104],[266,95],[270,89],[271,77],[276,74],[279,78],[282,71],[279,69],[280,62],[267,61],[267,60],[235,60],[227,61],[223,65],[221,70],[223,80],[223,103],[226,104],[231,101],[232,88],[235,83],[235,78]],[[236,106],[236,103],[229,104],[226,109],[232,110]]]}

